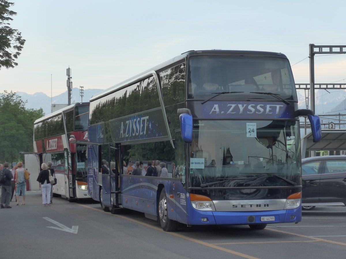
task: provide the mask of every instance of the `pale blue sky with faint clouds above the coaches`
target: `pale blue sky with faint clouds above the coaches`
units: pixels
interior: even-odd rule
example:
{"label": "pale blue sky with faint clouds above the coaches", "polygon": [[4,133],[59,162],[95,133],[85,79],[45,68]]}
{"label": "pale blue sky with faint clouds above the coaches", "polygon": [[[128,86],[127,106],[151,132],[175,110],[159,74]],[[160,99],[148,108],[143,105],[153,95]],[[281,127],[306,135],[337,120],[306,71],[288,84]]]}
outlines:
{"label": "pale blue sky with faint clouds above the coaches", "polygon": [[[346,45],[345,0],[10,2],[26,43],[18,66],[0,70],[0,92],[61,94],[69,66],[73,87],[106,89],[204,49],[282,52],[299,62],[295,83],[309,83],[309,44]],[[316,55],[315,78],[346,83],[345,54]]]}

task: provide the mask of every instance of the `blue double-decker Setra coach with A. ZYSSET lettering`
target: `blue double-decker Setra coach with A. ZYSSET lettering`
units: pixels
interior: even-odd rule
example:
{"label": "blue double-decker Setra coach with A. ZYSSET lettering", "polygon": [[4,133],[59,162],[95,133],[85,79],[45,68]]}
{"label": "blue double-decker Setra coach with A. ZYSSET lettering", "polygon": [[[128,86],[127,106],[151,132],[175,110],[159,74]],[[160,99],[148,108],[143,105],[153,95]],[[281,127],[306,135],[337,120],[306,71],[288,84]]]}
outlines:
{"label": "blue double-decker Setra coach with A. ZYSSET lettering", "polygon": [[274,52],[188,51],[90,99],[88,192],[105,211],[191,225],[301,220],[299,116]]}

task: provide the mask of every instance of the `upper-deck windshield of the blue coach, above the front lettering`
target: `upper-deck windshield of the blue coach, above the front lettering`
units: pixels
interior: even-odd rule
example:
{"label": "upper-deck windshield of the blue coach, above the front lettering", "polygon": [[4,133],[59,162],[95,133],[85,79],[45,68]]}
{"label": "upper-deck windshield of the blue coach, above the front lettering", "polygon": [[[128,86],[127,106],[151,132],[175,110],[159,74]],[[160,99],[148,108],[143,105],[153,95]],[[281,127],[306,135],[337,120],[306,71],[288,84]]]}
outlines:
{"label": "upper-deck windshield of the blue coach, above the front lettering", "polygon": [[[289,61],[274,57],[192,56],[188,67],[188,98],[239,100],[297,98]],[[261,94],[262,93],[262,94]]]}

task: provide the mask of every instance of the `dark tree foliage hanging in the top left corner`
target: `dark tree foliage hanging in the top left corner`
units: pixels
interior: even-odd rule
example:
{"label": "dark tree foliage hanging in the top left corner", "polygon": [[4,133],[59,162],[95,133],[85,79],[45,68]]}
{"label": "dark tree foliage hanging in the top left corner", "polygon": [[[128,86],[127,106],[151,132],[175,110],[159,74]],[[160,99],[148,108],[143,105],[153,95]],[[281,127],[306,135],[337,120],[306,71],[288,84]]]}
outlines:
{"label": "dark tree foliage hanging in the top left corner", "polygon": [[21,33],[9,27],[12,21],[11,16],[17,15],[16,12],[9,10],[14,3],[0,0],[0,69],[1,67],[13,68],[18,65],[15,59],[18,58],[24,46],[25,39]]}

